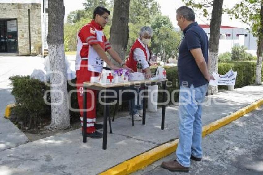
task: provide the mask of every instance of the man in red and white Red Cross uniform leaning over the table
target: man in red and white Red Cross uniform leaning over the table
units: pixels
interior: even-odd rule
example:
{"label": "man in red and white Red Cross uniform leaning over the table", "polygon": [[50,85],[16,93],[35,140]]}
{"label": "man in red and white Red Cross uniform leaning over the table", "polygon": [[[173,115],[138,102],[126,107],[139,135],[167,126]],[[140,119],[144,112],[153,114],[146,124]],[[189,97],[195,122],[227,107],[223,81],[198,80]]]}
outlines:
{"label": "man in red and white Red Cross uniform leaning over the table", "polygon": [[[104,7],[96,7],[93,12],[93,20],[83,26],[78,34],[77,55],[76,55],[76,75],[77,75],[77,95],[81,114],[81,126],[83,125],[83,82],[90,81],[92,76],[98,76],[103,69],[104,61],[112,69],[118,69],[106,56],[107,51],[110,56],[119,62],[123,68],[128,67],[119,57],[114,49],[111,48],[109,41],[103,34],[103,27],[109,21],[110,11]],[[96,124],[96,91],[87,92],[87,137],[101,138],[102,134],[96,129],[101,129],[101,124]],[[83,130],[83,129],[82,129]]]}

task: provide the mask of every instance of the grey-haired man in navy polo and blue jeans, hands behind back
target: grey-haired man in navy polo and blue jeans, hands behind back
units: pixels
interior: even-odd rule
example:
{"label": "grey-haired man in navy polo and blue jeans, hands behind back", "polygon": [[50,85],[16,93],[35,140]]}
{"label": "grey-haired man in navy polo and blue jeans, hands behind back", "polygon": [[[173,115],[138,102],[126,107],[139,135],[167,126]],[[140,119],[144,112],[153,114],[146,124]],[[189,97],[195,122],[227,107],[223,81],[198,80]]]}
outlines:
{"label": "grey-haired man in navy polo and blue jeans, hands behind back", "polygon": [[176,10],[178,26],[184,34],[179,46],[179,144],[177,159],[162,162],[170,171],[189,172],[190,158],[201,161],[202,157],[202,102],[210,79],[208,73],[208,38],[195,22],[194,11],[182,6]]}

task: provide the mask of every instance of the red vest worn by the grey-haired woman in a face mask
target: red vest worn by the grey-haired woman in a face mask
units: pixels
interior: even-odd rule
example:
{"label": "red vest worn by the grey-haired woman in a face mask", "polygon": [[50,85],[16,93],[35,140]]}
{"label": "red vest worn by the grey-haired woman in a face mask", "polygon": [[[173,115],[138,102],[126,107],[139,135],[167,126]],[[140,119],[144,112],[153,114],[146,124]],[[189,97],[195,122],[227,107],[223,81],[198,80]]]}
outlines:
{"label": "red vest worn by the grey-haired woman in a face mask", "polygon": [[[147,47],[148,47],[148,45],[147,45]],[[135,71],[135,72],[137,72],[137,63],[138,63],[138,61],[135,61],[134,59],[133,59],[133,51],[134,51],[134,49],[136,49],[136,48],[140,48],[140,49],[142,49],[143,50],[143,52],[144,52],[144,55],[145,55],[145,58],[147,59],[147,53],[146,53],[146,49],[145,49],[145,47],[143,47],[142,45],[141,45],[141,43],[138,41],[138,39],[135,41],[135,43],[131,46],[131,50],[130,50],[130,53],[129,53],[129,58],[127,59],[127,61],[126,61],[126,66],[128,66],[129,68],[131,68],[133,71]],[[149,47],[148,47],[148,50],[149,50],[149,53],[150,53],[150,58],[151,58],[151,52],[150,52],[150,49],[149,49]],[[149,60],[150,60],[150,58],[149,58]],[[148,63],[149,63],[149,61],[148,61]]]}

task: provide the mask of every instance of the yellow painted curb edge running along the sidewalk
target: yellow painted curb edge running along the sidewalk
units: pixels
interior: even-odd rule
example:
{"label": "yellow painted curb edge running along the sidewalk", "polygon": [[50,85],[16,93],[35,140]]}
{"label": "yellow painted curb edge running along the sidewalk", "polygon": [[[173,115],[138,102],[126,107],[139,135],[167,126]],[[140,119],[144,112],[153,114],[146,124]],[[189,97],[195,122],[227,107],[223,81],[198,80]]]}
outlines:
{"label": "yellow painted curb edge running along the sidewalk", "polygon": [[[238,119],[239,117],[251,112],[252,110],[260,107],[263,105],[263,98],[253,102],[252,104],[240,109],[230,115],[223,117],[215,122],[212,122],[206,126],[203,126],[202,136],[217,130],[218,128],[227,125],[228,123]],[[126,160],[102,173],[100,175],[123,175],[123,174],[130,174],[139,169],[142,169],[153,162],[168,156],[169,154],[176,151],[178,146],[179,139],[175,141],[165,143],[158,147],[155,147],[147,152],[144,152],[134,158]]]}

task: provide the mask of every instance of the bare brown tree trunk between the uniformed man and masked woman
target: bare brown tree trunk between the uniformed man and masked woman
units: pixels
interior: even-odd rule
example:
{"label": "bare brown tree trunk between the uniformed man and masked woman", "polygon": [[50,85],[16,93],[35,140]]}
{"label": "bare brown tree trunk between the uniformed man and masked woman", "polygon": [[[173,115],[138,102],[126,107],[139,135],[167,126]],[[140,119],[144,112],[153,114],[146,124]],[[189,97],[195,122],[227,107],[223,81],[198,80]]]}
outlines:
{"label": "bare brown tree trunk between the uniformed man and masked woman", "polygon": [[[123,60],[129,39],[129,8],[130,0],[115,0],[110,27],[110,44]],[[113,59],[111,61],[119,65]]]}

